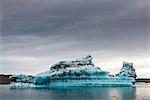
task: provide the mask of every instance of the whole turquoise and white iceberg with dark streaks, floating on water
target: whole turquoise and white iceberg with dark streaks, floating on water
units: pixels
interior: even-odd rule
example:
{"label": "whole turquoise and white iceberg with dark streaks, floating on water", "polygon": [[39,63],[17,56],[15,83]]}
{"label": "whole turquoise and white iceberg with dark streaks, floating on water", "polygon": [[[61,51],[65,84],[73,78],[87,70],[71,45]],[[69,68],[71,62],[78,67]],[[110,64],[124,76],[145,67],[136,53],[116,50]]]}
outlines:
{"label": "whole turquoise and white iceberg with dark streaks, floating on water", "polygon": [[14,75],[10,77],[11,88],[49,88],[66,86],[134,86],[136,72],[133,63],[123,62],[121,71],[116,75],[101,70],[87,55],[73,61],[60,61],[46,72],[29,77]]}

